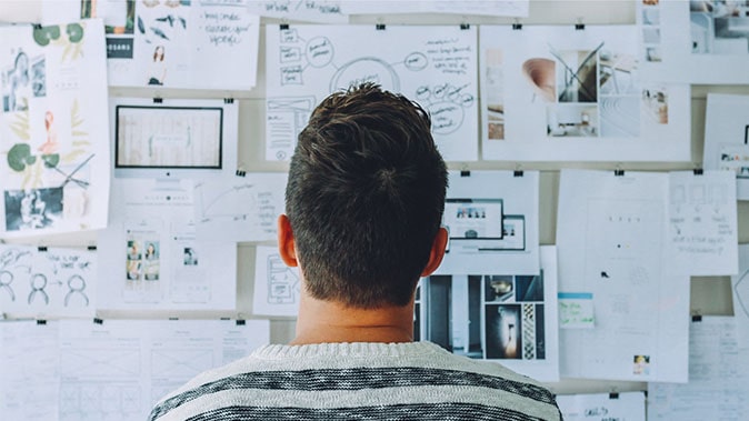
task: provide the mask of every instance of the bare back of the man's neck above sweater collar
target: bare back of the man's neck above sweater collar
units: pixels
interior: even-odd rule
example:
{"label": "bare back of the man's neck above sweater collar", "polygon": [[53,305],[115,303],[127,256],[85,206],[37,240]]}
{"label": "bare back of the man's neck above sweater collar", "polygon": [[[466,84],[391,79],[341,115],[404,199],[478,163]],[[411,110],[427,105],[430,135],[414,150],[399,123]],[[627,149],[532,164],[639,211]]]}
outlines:
{"label": "bare back of the man's neck above sweater collar", "polygon": [[341,342],[398,343],[413,340],[413,303],[357,309],[302,293],[297,337],[289,344]]}

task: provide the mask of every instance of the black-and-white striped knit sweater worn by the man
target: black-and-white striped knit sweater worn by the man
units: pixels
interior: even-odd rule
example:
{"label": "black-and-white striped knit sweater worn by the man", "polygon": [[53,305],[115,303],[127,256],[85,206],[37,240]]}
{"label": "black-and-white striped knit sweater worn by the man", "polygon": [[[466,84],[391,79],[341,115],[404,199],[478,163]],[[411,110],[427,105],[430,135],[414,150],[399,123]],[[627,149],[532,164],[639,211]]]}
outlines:
{"label": "black-and-white striped knit sweater worn by the man", "polygon": [[431,342],[267,345],[207,371],[150,420],[561,420],[536,381]]}

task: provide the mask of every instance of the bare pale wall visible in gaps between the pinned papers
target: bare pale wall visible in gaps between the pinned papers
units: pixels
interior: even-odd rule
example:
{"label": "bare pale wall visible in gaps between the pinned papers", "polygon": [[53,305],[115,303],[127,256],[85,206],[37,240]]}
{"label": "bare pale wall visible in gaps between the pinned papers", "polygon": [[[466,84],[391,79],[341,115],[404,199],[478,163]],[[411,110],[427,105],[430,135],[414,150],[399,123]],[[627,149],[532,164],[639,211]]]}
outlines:
{"label": "bare pale wall visible in gaps between the pinned papers", "polygon": [[[523,24],[573,24],[578,22],[587,24],[631,24],[635,23],[635,1],[623,0],[530,0],[530,16],[520,19]],[[34,19],[38,1],[0,0],[0,21],[31,21]],[[278,21],[263,19],[266,26],[276,27]],[[352,23],[386,23],[386,24],[460,24],[460,23],[499,23],[510,24],[516,22],[512,18],[491,17],[463,17],[463,16],[380,16],[380,17],[353,17]],[[293,24],[293,22],[291,22]],[[264,27],[264,26],[263,26]],[[261,36],[261,46],[264,42]],[[112,89],[112,96],[134,96],[151,98],[237,98],[239,99],[239,156],[238,164],[247,171],[286,171],[287,164],[279,162],[266,162],[264,157],[264,53],[261,47],[259,61],[258,88],[250,92],[231,91],[170,91],[151,89]],[[749,87],[737,86],[693,86],[691,93],[692,106],[692,134],[691,162],[681,163],[636,163],[636,162],[545,162],[545,163],[518,163],[518,162],[451,162],[450,169],[492,169],[513,170],[520,166],[526,170],[541,171],[541,198],[540,198],[540,242],[553,244],[556,242],[557,202],[559,187],[559,170],[562,168],[586,168],[613,170],[619,167],[625,170],[668,171],[691,170],[701,167],[702,146],[705,131],[705,108],[708,92],[730,92],[749,94]],[[477,140],[478,141],[478,140]],[[739,242],[749,242],[749,202],[739,202]],[[59,235],[54,238],[31,239],[27,243],[43,243],[46,245],[79,245],[96,242],[94,233],[81,233],[74,235]],[[218,318],[240,317],[252,318],[252,277],[254,273],[254,244],[241,243],[239,248],[239,265],[237,269],[238,303],[237,313],[157,313],[157,312],[113,312],[101,311],[98,315],[109,318]],[[700,314],[733,314],[731,304],[730,279],[692,278],[691,279],[691,309]],[[293,337],[294,323],[292,319],[274,319],[271,321],[271,341],[283,343]],[[612,382],[592,380],[565,379],[559,383],[549,384],[557,393],[576,392],[608,392],[611,390],[630,391],[646,390],[647,385],[639,382]]]}

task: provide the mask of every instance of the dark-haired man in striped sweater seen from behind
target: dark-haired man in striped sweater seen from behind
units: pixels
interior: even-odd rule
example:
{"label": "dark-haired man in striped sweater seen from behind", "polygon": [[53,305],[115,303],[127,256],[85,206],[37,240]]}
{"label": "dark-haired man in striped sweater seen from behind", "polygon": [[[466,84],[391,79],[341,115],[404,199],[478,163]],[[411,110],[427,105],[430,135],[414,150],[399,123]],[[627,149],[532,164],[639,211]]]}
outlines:
{"label": "dark-haired man in striped sweater seen from behind", "polygon": [[535,381],[412,342],[417,282],[447,242],[447,170],[430,124],[369,83],[318,106],[278,221],[281,258],[302,274],[297,337],[199,375],[151,419],[561,418]]}

